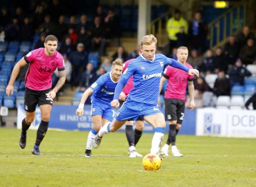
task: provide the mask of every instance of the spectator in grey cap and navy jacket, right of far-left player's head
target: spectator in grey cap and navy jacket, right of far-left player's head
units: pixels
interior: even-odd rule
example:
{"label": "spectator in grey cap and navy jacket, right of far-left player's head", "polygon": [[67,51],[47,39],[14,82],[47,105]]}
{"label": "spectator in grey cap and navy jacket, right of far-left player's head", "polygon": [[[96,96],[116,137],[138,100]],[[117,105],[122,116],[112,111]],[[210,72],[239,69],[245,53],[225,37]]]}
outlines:
{"label": "spectator in grey cap and navy jacket, right of far-left player's head", "polygon": [[71,84],[78,86],[81,72],[87,64],[87,52],[84,50],[84,44],[77,45],[77,50],[71,52],[69,60],[72,64]]}

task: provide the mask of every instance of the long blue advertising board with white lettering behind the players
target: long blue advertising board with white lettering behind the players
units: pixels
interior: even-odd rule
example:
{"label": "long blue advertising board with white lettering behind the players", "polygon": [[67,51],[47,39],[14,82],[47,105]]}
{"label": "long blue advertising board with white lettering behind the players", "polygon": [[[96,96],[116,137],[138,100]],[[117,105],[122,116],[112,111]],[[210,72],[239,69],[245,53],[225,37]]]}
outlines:
{"label": "long blue advertising board with white lettering behind the players", "polygon": [[[51,129],[64,129],[64,130],[82,130],[90,131],[92,128],[92,118],[91,118],[91,106],[85,105],[84,115],[79,117],[75,114],[77,106],[72,105],[54,105],[51,111],[51,117],[49,121],[49,128]],[[160,108],[164,113],[164,109]],[[26,117],[24,111],[24,104],[19,104],[17,106],[17,128],[22,128],[22,120]],[[36,116],[30,129],[36,130],[41,122],[41,113],[39,107],[36,108]],[[166,123],[165,133],[169,132],[168,122]],[[135,127],[135,125],[134,125]],[[123,126],[119,131],[124,132],[125,126]],[[195,135],[196,130],[196,110],[189,111],[185,110],[184,120],[182,123],[182,128],[179,134],[189,134]],[[154,128],[145,123],[143,132],[154,133]]]}

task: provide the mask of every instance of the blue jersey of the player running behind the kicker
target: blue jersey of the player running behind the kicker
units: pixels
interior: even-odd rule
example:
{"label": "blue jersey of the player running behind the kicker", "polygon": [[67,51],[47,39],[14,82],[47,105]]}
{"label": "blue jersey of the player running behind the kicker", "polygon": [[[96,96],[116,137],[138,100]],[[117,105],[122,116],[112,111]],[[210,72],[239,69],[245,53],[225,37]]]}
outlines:
{"label": "blue jersey of the player running behind the kicker", "polygon": [[113,101],[117,82],[111,78],[111,72],[101,75],[91,86],[93,94],[91,100],[110,105]]}

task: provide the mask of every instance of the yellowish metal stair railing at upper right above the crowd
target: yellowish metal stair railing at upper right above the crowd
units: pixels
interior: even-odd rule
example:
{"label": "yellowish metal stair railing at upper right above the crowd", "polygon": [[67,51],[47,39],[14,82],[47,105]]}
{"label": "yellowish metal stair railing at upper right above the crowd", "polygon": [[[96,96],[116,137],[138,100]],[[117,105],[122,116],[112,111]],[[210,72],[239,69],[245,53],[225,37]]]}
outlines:
{"label": "yellowish metal stair railing at upper right above the crowd", "polygon": [[245,2],[239,3],[208,24],[210,49],[223,45],[228,36],[236,35],[241,30],[246,24],[246,9]]}

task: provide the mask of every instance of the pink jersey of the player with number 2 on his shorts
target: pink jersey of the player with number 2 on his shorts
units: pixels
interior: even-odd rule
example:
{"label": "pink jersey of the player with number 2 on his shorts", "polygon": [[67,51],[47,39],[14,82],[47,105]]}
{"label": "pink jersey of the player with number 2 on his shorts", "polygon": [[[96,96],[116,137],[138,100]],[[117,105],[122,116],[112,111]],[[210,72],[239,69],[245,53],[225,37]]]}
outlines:
{"label": "pink jersey of the player with number 2 on his shorts", "polygon": [[[185,66],[193,69],[188,63],[186,63]],[[185,100],[187,80],[193,81],[194,75],[189,75],[181,69],[167,66],[163,76],[168,79],[164,98]]]}

